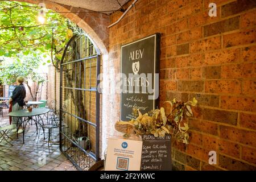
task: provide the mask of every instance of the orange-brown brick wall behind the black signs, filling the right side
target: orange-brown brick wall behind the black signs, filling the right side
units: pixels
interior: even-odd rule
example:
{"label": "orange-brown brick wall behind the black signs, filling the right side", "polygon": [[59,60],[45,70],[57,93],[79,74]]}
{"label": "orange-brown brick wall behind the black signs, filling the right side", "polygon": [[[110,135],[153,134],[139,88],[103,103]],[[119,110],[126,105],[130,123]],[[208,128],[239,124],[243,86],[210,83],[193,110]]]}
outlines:
{"label": "orange-brown brick wall behind the black signs, filling the right side", "polygon": [[[217,4],[217,17],[208,16],[210,2]],[[121,14],[112,14],[111,22]],[[256,170],[255,14],[255,1],[140,0],[110,28],[106,79],[120,71],[122,44],[159,32],[160,105],[175,97],[199,101],[189,119],[190,143],[172,151],[180,170]],[[114,123],[119,95],[106,98],[106,119]],[[210,166],[212,150],[217,165]]]}

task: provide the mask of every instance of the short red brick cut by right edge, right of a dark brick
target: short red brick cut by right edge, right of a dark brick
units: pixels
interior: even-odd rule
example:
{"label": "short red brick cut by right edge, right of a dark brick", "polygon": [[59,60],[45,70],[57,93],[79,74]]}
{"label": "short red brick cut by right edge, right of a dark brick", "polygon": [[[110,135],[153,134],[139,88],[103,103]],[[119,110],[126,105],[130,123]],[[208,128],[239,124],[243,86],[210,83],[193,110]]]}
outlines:
{"label": "short red brick cut by right edge, right of a dark brick", "polygon": [[240,113],[240,126],[256,130],[256,115]]}

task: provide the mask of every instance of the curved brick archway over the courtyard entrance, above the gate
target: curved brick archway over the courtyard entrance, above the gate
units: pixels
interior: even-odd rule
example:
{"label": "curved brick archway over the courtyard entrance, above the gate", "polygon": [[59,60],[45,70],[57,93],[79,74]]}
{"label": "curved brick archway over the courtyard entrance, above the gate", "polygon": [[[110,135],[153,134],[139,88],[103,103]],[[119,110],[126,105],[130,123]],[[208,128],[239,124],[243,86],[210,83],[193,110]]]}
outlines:
{"label": "curved brick archway over the courtyard entrance, above the gate", "polygon": [[[14,0],[12,0],[14,1]],[[109,49],[109,30],[108,24],[110,19],[108,15],[102,13],[84,13],[86,10],[77,7],[61,5],[50,1],[42,0],[15,0],[19,2],[27,2],[31,4],[39,5],[39,3],[45,3],[47,9],[51,9],[57,12],[68,12],[60,13],[72,22],[76,23],[77,26],[81,27],[86,34],[92,39],[95,46],[100,49],[102,55],[108,55]],[[70,13],[76,12],[76,13]],[[82,12],[82,13],[80,13]]]}

